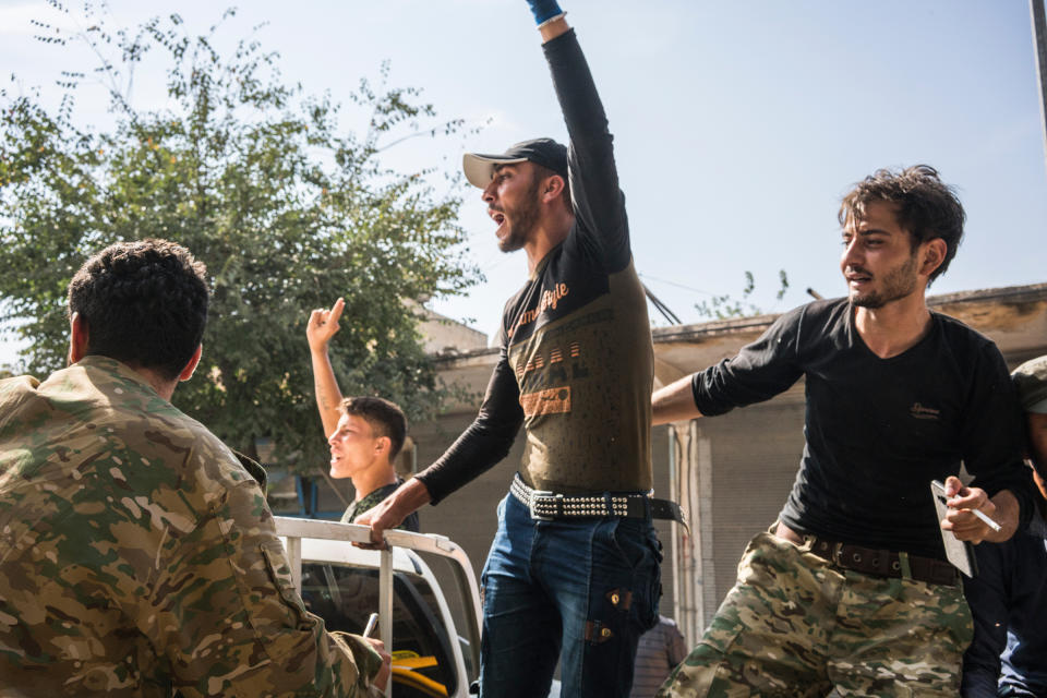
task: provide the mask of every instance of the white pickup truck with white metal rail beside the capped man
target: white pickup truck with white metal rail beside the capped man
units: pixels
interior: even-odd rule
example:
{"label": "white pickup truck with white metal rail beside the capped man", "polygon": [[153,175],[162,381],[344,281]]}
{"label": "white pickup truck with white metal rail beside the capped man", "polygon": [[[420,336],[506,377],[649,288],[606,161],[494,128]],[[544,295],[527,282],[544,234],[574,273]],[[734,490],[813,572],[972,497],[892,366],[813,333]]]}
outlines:
{"label": "white pickup truck with white metal rail beside the capped man", "polygon": [[364,526],[276,517],[305,607],[329,630],[361,633],[378,613],[393,654],[387,696],[469,696],[480,670],[480,593],[466,553],[443,535],[387,531],[388,550],[354,547]]}

